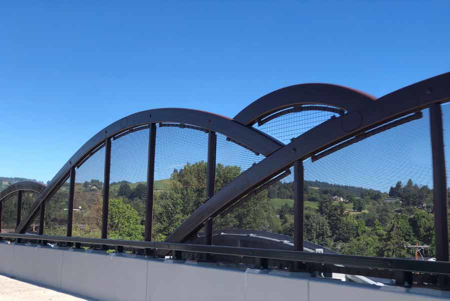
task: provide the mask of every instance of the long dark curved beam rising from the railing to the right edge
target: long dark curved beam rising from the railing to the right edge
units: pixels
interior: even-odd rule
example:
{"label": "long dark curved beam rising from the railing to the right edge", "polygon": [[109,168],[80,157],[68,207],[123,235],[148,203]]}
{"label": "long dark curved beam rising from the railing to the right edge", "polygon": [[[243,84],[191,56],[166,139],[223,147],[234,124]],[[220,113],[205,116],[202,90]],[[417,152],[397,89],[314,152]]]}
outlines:
{"label": "long dark curved beam rising from the railing to the right edge", "polygon": [[431,103],[444,101],[450,101],[450,72],[411,84],[376,101],[360,103],[355,110],[328,119],[242,172],[200,205],[166,241],[187,240],[201,228],[207,218],[216,216],[220,210],[278,174],[293,161],[305,159],[363,130],[422,109]]}

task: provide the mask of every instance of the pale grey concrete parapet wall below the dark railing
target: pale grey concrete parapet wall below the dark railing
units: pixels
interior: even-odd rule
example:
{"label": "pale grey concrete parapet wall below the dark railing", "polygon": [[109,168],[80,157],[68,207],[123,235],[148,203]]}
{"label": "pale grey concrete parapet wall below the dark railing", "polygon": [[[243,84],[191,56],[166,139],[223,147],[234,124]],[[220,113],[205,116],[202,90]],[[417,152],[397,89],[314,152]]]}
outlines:
{"label": "pale grey concrete parapet wall below the dark railing", "polygon": [[[98,300],[437,300],[450,292],[0,242],[0,273]],[[7,292],[5,292],[7,293]]]}

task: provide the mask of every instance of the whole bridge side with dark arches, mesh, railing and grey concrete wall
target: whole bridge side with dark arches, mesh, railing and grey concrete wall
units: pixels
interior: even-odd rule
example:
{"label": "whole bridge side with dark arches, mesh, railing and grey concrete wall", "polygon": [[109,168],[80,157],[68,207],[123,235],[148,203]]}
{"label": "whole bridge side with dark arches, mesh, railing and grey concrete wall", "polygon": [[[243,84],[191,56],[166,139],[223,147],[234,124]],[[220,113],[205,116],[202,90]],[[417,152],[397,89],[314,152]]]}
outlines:
{"label": "whole bridge side with dark arches, mesh, railing and grey concrete wall", "polygon": [[104,300],[448,298],[449,100],[444,73],[123,117],[0,192],[0,273]]}

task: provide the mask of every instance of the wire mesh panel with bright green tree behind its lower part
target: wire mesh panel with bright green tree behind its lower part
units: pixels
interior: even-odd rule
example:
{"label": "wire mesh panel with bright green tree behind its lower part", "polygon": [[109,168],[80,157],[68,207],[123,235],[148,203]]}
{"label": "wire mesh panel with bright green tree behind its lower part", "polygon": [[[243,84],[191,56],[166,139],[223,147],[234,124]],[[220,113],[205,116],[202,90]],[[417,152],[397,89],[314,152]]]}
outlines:
{"label": "wire mesh panel with bright green tree behind its lower part", "polygon": [[111,142],[108,238],[143,240],[149,130]]}

